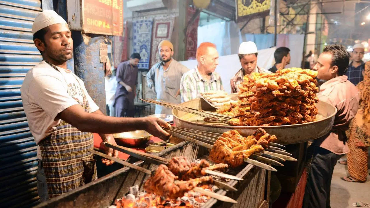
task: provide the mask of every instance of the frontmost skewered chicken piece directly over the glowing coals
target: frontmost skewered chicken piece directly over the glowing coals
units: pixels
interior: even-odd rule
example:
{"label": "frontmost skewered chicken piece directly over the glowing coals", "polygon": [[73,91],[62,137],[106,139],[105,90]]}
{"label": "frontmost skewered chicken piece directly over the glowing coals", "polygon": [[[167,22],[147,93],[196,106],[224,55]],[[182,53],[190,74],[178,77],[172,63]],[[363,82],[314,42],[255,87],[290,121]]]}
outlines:
{"label": "frontmost skewered chicken piece directly over the glowing coals", "polygon": [[145,181],[144,189],[149,193],[175,199],[182,197],[185,192],[204,182],[212,183],[212,176],[179,181],[178,177],[169,171],[166,165],[162,164],[159,165],[155,174]]}

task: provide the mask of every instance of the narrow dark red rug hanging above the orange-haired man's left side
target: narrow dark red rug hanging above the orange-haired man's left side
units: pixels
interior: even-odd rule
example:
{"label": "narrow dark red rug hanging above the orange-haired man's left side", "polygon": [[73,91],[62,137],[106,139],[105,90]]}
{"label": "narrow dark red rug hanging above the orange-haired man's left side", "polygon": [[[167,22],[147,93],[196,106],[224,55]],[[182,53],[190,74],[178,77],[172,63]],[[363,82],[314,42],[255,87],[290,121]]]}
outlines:
{"label": "narrow dark red rug hanging above the orange-haired man's left side", "polygon": [[[189,22],[193,14],[195,13],[195,9],[193,7],[188,7],[188,12],[186,13],[186,22]],[[198,23],[199,23],[199,15],[196,17],[194,22],[191,25],[188,25],[188,30],[186,32],[186,53],[189,59],[195,59],[195,53],[198,43]]]}

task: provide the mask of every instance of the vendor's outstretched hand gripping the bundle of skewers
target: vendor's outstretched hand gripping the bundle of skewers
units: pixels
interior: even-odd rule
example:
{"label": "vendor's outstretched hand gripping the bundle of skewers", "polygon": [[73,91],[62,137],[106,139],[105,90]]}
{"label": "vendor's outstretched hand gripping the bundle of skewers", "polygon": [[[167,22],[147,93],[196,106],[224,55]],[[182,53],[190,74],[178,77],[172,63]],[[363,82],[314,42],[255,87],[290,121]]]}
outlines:
{"label": "vendor's outstretched hand gripping the bundle of skewers", "polygon": [[142,119],[144,120],[145,131],[155,137],[159,137],[161,140],[168,140],[169,134],[161,126],[171,128],[171,125],[157,117],[146,117]]}

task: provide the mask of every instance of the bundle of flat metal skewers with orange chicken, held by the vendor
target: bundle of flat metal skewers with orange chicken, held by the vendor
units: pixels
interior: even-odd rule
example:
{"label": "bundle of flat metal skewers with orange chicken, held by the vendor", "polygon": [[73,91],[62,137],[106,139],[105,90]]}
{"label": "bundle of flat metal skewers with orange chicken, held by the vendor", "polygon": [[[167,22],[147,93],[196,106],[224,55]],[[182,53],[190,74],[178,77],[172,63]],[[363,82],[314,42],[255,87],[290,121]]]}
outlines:
{"label": "bundle of flat metal skewers with orange chicken, held by the vendor", "polygon": [[275,135],[258,128],[253,135],[243,137],[238,131],[232,130],[223,134],[186,129],[180,127],[164,128],[170,134],[186,141],[199,144],[211,150],[209,160],[223,162],[231,167],[238,167],[248,162],[266,170],[276,171],[271,165],[283,166],[281,162],[297,161],[292,154],[277,144]]}

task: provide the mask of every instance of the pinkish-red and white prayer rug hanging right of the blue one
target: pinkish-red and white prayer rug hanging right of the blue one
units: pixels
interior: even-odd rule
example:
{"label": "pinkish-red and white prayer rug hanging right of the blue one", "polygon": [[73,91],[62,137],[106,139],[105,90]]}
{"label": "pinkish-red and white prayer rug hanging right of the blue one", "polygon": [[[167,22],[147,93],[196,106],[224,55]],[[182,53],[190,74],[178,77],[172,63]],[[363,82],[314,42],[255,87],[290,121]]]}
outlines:
{"label": "pinkish-red and white prayer rug hanging right of the blue one", "polygon": [[153,66],[155,63],[159,62],[158,44],[162,40],[171,41],[172,30],[174,28],[174,20],[175,20],[175,17],[154,19],[150,66]]}

